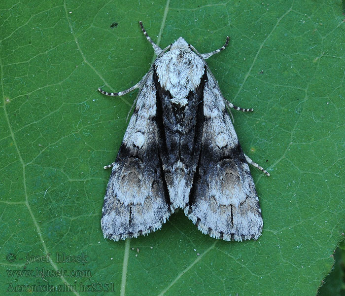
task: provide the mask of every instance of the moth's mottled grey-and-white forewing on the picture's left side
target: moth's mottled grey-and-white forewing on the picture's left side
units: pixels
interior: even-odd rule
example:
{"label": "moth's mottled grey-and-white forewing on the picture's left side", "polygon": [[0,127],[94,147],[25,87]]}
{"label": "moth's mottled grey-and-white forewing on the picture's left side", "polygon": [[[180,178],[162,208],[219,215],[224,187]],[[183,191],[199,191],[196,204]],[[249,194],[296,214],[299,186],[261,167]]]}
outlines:
{"label": "moth's mottled grey-and-white forewing on the picture's left side", "polygon": [[102,210],[104,237],[137,237],[161,227],[171,214],[158,152],[156,90],[152,73],[138,95],[135,111],[112,168]]}

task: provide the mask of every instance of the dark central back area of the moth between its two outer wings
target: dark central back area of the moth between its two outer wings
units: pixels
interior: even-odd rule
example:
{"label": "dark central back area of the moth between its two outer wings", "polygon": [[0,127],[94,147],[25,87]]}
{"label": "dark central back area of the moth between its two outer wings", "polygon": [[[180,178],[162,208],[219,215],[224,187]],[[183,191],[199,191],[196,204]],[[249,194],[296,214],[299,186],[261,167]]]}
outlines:
{"label": "dark central back area of the moth between its two outer wings", "polygon": [[156,70],[153,74],[157,90],[158,147],[173,209],[185,207],[193,185],[203,133],[205,79],[206,69],[198,87],[189,92],[188,104],[177,107],[171,103],[171,93],[158,82]]}

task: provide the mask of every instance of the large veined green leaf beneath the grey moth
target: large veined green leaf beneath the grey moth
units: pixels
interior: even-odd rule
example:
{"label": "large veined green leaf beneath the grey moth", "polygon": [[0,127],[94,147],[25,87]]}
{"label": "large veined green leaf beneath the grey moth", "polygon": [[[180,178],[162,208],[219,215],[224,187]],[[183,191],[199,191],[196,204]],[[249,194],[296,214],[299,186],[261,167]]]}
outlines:
{"label": "large veined green leaf beneath the grey moth", "polygon": [[[1,295],[67,284],[75,292],[66,296],[112,294],[106,287],[316,294],[345,228],[340,1],[19,0],[2,1],[0,13]],[[243,150],[271,173],[251,168],[264,219],[258,241],[212,239],[182,211],[148,236],[103,238],[103,166],[115,159],[137,92],[107,98],[97,88],[124,90],[148,71],[153,50],[138,20],[161,47],[183,36],[204,53],[231,37],[208,65],[226,99],[254,108],[233,115]],[[84,261],[59,262],[57,253]]]}

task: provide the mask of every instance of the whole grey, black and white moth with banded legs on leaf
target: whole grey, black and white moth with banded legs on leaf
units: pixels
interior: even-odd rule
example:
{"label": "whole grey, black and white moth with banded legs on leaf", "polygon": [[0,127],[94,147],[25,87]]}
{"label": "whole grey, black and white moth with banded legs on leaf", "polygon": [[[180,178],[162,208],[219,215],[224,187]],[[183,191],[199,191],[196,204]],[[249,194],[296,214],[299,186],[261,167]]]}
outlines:
{"label": "whole grey, black and white moth with banded legs on leaf", "polygon": [[257,239],[263,221],[246,156],[227,109],[253,111],[224,99],[206,59],[182,37],[161,49],[139,88],[104,197],[104,237],[120,240],[161,228],[178,208],[205,234],[226,241]]}

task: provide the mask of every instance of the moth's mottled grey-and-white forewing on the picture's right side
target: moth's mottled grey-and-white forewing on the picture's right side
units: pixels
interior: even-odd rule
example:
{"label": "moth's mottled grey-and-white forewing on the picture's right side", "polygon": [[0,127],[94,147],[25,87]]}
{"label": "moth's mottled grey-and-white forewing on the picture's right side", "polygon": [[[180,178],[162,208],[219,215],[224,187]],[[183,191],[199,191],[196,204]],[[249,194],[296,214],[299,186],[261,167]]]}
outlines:
{"label": "moth's mottled grey-and-white forewing on the picture's right side", "polygon": [[224,98],[207,72],[201,153],[185,214],[211,237],[257,239],[259,199]]}

